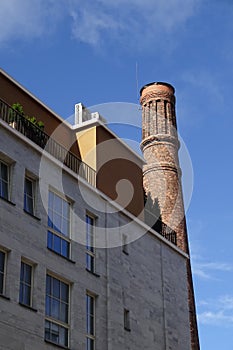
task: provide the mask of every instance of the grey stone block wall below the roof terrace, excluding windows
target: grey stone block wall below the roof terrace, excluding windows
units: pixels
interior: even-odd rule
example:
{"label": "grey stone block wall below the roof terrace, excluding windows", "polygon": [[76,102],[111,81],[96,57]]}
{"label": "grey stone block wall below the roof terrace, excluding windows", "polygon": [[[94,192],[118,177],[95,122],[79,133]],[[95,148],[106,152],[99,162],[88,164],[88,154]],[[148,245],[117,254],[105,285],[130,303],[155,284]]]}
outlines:
{"label": "grey stone block wall below the roof terrace, excluding windows", "polygon": [[[5,291],[0,296],[0,349],[57,347],[44,340],[47,272],[70,286],[71,350],[86,349],[87,291],[96,300],[95,350],[190,349],[187,255],[156,232],[147,232],[145,224],[133,220],[132,215],[114,208],[106,196],[68,168],[63,169],[62,185],[73,210],[71,256],[65,259],[48,250],[43,202],[49,188],[60,192],[61,164],[46,157],[47,176],[42,177],[40,148],[2,121],[0,140],[0,160],[11,165],[10,202],[0,198],[0,247],[7,255]],[[23,210],[25,171],[38,179],[36,217]],[[110,207],[113,213],[109,213]],[[96,248],[95,274],[86,270],[86,247],[82,244],[87,211],[96,218],[99,242],[111,246],[101,248],[99,244]],[[127,254],[119,246],[122,234],[132,241]],[[31,308],[19,304],[22,258],[33,264]],[[124,309],[129,311],[128,330],[124,328]]]}

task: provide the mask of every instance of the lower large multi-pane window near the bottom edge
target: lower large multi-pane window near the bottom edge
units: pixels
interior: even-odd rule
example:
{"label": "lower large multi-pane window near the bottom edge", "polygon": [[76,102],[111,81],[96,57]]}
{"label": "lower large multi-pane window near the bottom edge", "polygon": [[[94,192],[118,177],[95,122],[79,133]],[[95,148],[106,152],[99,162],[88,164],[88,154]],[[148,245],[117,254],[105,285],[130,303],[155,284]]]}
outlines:
{"label": "lower large multi-pane window near the bottom edge", "polygon": [[59,279],[46,277],[45,340],[68,347],[69,285]]}

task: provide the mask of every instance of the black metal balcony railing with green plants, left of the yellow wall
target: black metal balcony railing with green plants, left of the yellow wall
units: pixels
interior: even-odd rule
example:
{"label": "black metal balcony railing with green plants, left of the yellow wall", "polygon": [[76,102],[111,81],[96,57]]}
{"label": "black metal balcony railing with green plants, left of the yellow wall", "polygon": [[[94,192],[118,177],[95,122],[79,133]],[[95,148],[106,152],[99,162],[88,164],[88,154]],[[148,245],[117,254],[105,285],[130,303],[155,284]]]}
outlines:
{"label": "black metal balcony railing with green plants, left of the yellow wall", "polygon": [[54,158],[96,187],[96,171],[82,162],[75,154],[52,139],[37,125],[25,118],[22,114],[0,99],[0,119],[11,125],[15,130],[26,136],[42,149],[45,149]]}

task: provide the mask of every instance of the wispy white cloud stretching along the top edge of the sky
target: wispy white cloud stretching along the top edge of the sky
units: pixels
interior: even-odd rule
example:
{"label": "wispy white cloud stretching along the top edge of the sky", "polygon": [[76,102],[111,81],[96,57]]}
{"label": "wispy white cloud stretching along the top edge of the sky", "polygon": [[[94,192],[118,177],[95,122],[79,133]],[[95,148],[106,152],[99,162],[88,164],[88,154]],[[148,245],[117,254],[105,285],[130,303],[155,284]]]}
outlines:
{"label": "wispy white cloud stretching along the top edge of the sky", "polygon": [[2,0],[0,44],[53,32],[66,20],[70,33],[91,46],[106,40],[136,48],[172,35],[191,18],[200,0]]}

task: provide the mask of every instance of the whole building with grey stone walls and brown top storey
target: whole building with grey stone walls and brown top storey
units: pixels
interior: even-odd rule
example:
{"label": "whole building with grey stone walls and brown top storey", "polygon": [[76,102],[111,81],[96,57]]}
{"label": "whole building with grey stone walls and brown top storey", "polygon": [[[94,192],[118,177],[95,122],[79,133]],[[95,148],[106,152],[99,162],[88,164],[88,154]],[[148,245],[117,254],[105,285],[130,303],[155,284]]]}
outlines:
{"label": "whole building with grey stone walls and brown top storey", "polygon": [[[143,221],[143,160],[98,116],[72,126],[0,86],[0,349],[197,349],[189,255]],[[125,178],[134,197],[114,201]]]}

